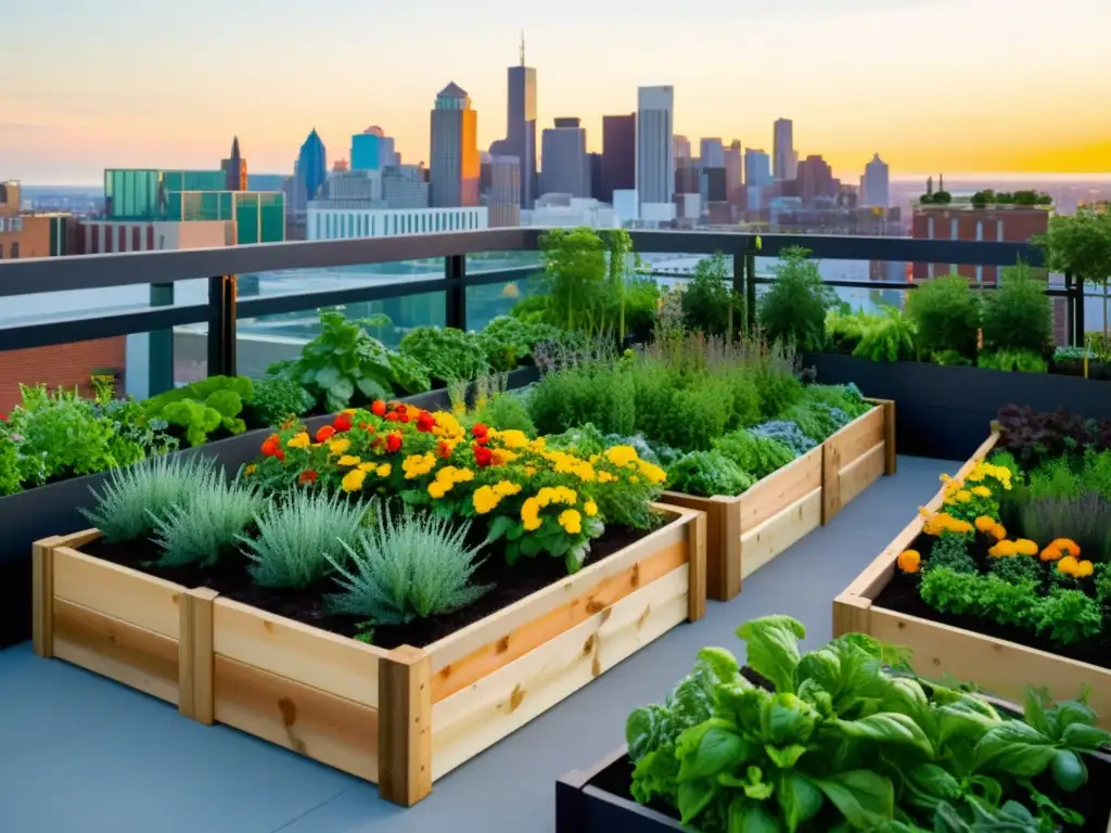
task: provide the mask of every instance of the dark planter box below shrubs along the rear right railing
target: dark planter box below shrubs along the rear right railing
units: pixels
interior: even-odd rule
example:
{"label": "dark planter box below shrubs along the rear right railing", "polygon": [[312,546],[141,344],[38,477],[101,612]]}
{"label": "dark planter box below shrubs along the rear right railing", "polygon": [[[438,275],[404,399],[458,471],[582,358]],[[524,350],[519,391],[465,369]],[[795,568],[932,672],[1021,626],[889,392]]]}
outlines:
{"label": "dark planter box below shrubs along the rear right railing", "polygon": [[865,397],[895,401],[901,454],[965,460],[983,441],[999,409],[1030,405],[1084,416],[1111,416],[1111,383],[1053,373],[1008,373],[925,362],[873,362],[837,353],[807,353],[823,384],[854,382]]}

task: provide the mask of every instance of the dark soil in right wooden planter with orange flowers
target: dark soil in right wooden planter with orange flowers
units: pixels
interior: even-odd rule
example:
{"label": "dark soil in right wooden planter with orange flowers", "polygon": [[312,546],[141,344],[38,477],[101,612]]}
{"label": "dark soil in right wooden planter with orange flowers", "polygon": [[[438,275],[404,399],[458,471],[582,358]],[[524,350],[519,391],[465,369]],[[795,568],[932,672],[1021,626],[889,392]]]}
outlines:
{"label": "dark soil in right wooden planter with orange flowers", "polygon": [[[931,544],[932,539],[929,535],[919,535],[918,540],[910,549],[918,550],[918,552],[922,553],[922,560],[924,562],[929,560],[928,553]],[[980,561],[980,559],[978,559],[978,561]],[[903,573],[897,569],[894,578],[875,599],[875,606],[883,608],[884,610],[891,610],[897,613],[905,613],[910,616],[918,616],[919,619],[925,619],[930,622],[952,625],[953,628],[972,631],[973,633],[980,633],[984,636],[994,636],[995,639],[1015,642],[1020,645],[1025,645],[1027,648],[1033,648],[1039,651],[1055,654],[1057,656],[1065,656],[1070,660],[1079,660],[1080,662],[1091,663],[1092,665],[1098,665],[1103,669],[1111,669],[1111,633],[1108,633],[1107,631],[1104,631],[1104,633],[1095,640],[1090,640],[1074,645],[1062,645],[1058,642],[1043,639],[1034,633],[1031,633],[1030,631],[1014,628],[1013,625],[1001,625],[990,619],[982,619],[980,616],[954,616],[941,613],[923,602],[919,595],[918,585],[920,575],[920,573]]]}

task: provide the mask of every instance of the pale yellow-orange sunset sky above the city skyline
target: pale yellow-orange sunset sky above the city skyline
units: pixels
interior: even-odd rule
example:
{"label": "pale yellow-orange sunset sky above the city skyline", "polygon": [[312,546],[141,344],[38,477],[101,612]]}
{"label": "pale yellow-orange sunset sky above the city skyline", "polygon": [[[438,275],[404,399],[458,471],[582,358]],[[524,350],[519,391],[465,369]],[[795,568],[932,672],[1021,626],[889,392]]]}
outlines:
{"label": "pale yellow-orange sunset sky above the city skyline", "polygon": [[[0,179],[97,183],[108,167],[213,168],[232,134],[253,172],[290,172],[317,128],[329,162],[380,124],[427,161],[456,81],[486,149],[506,128],[520,30],[540,128],[675,88],[675,130],[801,157],[853,182],[1111,171],[1108,0],[32,0],[2,14]],[[539,144],[539,141],[538,141]],[[695,151],[697,152],[697,151]]]}

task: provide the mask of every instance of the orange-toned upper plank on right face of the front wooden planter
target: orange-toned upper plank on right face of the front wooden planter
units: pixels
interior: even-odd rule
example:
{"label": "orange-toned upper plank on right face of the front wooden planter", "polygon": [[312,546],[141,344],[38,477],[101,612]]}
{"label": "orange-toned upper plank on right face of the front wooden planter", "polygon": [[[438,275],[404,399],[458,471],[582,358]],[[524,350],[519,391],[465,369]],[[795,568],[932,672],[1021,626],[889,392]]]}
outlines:
{"label": "orange-toned upper plank on right face of the front wooden planter", "polygon": [[[689,515],[688,519],[688,523],[684,525],[689,525],[694,520],[690,519]],[[685,533],[685,530],[681,529],[680,531]],[[429,649],[432,654],[432,668],[439,669],[432,678],[432,702],[438,703],[457,691],[466,689],[502,665],[513,662],[579,623],[585,622],[599,611],[632,595],[639,588],[647,586],[675,568],[688,564],[690,553],[691,544],[687,534],[683,534],[681,540],[669,543],[647,558],[630,564],[620,573],[602,575],[584,593],[568,599],[558,608],[543,612],[538,611],[533,618],[512,629],[491,630],[488,628],[486,632],[489,634],[489,641],[454,662],[441,662],[438,655],[440,649],[437,646]],[[494,613],[483,622],[497,620],[499,615],[500,613]]]}

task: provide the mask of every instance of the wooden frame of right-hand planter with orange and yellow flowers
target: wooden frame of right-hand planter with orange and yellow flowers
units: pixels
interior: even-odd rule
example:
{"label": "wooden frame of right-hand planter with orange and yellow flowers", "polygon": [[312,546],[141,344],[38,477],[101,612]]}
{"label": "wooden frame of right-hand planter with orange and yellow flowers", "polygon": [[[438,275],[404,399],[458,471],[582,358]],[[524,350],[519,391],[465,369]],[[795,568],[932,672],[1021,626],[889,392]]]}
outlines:
{"label": "wooden frame of right-hand planter with orange and yellow flowers", "polygon": [[[992,433],[961,466],[957,478],[965,476],[975,461],[988,454],[999,439]],[[927,504],[941,506],[943,490]],[[1100,725],[1111,729],[1111,670],[1057,656],[1015,642],[984,636],[939,622],[884,610],[874,604],[880,592],[895,573],[899,553],[910,546],[922,531],[919,514],[849,588],[833,602],[833,635],[868,633],[914,652],[915,669],[928,678],[951,675],[979,683],[993,694],[1021,702],[1023,686],[1045,685],[1054,700],[1072,700],[1081,685],[1091,686],[1090,705]]]}

